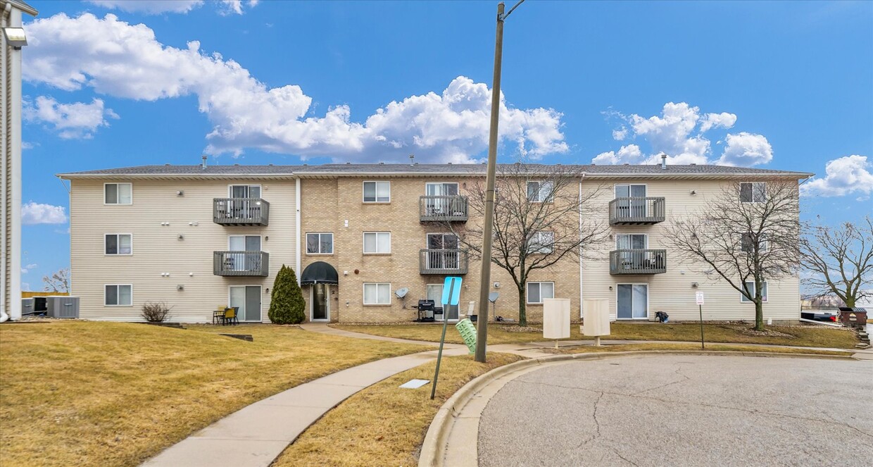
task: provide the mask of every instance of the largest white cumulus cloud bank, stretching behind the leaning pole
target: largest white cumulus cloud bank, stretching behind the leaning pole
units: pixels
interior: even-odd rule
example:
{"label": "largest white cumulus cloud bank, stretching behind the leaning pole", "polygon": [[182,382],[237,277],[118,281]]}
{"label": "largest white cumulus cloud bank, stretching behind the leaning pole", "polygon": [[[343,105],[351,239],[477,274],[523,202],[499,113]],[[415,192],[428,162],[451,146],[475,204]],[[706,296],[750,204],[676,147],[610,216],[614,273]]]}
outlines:
{"label": "largest white cumulus cloud bank, stretching behind the leaning pole", "polygon": [[[410,153],[422,161],[471,161],[488,144],[491,90],[463,76],[441,93],[390,102],[361,122],[345,105],[312,115],[313,98],[300,86],[265,86],[237,62],[201,52],[196,41],[165,46],[148,26],[112,14],[59,13],[28,24],[28,34],[24,78],[32,82],[134,100],[196,95],[213,124],[206,135],[213,155],[258,148],[344,161],[402,161]],[[501,96],[501,141],[532,159],[567,152],[561,118],[553,109],[514,108]]]}

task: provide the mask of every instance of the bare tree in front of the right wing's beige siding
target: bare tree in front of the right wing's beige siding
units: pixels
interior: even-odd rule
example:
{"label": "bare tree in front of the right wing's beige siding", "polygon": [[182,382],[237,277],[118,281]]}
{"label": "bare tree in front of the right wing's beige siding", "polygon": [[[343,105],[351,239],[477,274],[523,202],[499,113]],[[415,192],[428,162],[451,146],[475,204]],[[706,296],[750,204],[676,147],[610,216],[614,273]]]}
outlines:
{"label": "bare tree in front of the right wing's beige siding", "polygon": [[668,224],[667,242],[753,302],[755,330],[763,331],[766,280],[794,275],[800,264],[799,211],[794,180],[730,182],[698,215]]}

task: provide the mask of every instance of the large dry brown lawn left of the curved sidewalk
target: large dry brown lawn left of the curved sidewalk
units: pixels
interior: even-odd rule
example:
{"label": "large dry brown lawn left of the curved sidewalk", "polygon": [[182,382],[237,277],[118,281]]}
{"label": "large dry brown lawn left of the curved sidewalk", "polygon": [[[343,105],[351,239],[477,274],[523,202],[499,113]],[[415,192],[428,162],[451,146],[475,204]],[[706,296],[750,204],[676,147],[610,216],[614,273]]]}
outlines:
{"label": "large dry brown lawn left of the curved sidewalk", "polygon": [[[248,333],[254,342],[217,333]],[[136,465],[251,402],[430,347],[290,326],[0,326],[0,464]]]}

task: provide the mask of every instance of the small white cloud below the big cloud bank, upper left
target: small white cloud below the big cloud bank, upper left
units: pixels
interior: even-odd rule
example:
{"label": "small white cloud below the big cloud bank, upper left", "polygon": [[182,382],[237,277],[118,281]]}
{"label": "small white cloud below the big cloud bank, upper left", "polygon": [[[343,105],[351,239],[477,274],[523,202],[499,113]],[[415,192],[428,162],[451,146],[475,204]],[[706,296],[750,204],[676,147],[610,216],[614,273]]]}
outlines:
{"label": "small white cloud below the big cloud bank, upper left", "polygon": [[101,99],[90,104],[61,104],[46,96],[39,96],[35,102],[25,101],[23,115],[24,120],[50,124],[65,140],[92,138],[98,127],[109,126],[107,118],[118,118],[111,108],[105,108]]}

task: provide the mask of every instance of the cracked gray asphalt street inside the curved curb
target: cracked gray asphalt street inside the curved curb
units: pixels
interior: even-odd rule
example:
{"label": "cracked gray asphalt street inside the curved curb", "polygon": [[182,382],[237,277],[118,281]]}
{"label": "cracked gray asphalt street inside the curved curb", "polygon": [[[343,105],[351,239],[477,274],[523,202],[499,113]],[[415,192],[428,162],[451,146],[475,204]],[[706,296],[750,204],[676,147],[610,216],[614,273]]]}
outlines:
{"label": "cracked gray asphalt street inside the curved curb", "polygon": [[873,465],[873,361],[649,355],[523,374],[481,466]]}

